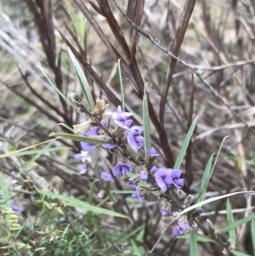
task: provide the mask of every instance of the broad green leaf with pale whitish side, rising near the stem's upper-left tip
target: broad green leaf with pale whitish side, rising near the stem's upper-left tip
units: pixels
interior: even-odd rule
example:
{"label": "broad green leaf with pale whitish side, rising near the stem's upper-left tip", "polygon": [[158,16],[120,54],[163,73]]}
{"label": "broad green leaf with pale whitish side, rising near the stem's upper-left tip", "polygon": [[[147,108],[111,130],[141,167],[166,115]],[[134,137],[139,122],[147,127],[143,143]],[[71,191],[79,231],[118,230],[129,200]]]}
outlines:
{"label": "broad green leaf with pale whitish side, rising near the stem's upper-left tip", "polygon": [[80,82],[80,86],[82,88],[82,93],[83,93],[85,99],[88,102],[89,110],[94,111],[94,106],[95,106],[94,105],[94,100],[93,100],[93,97],[92,97],[92,94],[91,94],[91,91],[90,91],[90,88],[89,88],[89,85],[88,85],[87,78],[85,77],[84,72],[82,71],[81,65],[77,61],[77,58],[75,57],[75,55],[71,52],[70,48],[68,48],[68,53],[70,55],[71,62],[75,67],[75,71],[77,73],[77,77],[78,77],[78,80]]}

